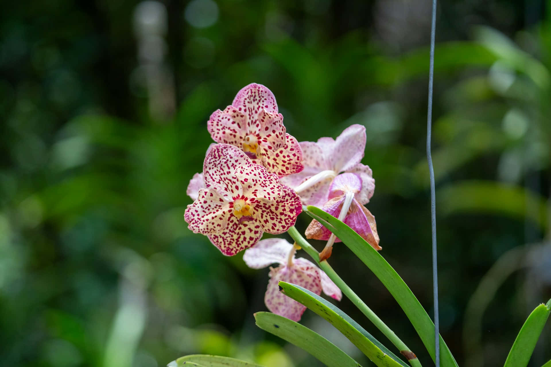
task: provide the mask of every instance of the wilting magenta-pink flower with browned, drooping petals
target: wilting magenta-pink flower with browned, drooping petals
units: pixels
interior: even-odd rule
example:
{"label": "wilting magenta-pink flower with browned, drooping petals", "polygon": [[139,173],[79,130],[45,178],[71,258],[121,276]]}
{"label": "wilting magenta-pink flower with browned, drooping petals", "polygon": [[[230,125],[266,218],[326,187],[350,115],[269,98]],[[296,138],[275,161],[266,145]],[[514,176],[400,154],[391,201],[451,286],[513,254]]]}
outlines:
{"label": "wilting magenta-pink flower with browned, drooping petals", "polygon": [[[361,205],[360,193],[362,187],[362,180],[358,173],[339,174],[329,186],[329,200],[322,206],[322,210],[337,217],[354,229],[375,250],[381,250],[375,217],[365,206]],[[306,238],[328,241],[326,247],[320,253],[320,260],[325,260],[331,256],[333,243],[341,241],[316,220],[313,220],[306,228]]]}

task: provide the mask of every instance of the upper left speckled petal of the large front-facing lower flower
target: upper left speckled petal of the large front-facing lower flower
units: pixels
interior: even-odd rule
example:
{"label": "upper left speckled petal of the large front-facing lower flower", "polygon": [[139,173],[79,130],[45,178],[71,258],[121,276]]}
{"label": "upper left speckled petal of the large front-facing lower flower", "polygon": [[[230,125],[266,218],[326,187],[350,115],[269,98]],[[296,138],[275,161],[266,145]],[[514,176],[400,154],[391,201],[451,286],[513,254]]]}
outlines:
{"label": "upper left speckled petal of the large front-facing lower flower", "polygon": [[214,144],[208,150],[203,163],[205,186],[217,187],[233,198],[241,196],[243,190],[235,171],[237,168],[252,165],[249,157],[235,146]]}

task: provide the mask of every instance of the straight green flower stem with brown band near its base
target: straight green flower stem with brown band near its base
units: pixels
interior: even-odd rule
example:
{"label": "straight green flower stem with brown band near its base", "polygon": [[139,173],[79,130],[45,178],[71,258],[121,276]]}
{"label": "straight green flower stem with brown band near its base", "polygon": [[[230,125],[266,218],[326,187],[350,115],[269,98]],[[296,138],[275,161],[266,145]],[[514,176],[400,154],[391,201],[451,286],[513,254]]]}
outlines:
{"label": "straight green flower stem with brown band near its base", "polygon": [[[366,305],[363,300],[358,297],[356,293],[350,288],[339,275],[333,270],[331,265],[327,262],[327,260],[320,261],[320,254],[317,252],[317,250],[312,247],[312,245],[302,237],[302,235],[297,231],[297,229],[293,226],[289,228],[288,231],[289,235],[293,237],[295,242],[300,245],[302,249],[306,251],[308,255],[316,263],[320,266],[320,268],[325,271],[327,276],[331,278],[331,280],[337,284],[337,287],[341,289],[341,291],[350,299],[356,307],[366,316],[368,319],[388,338],[388,340],[391,341],[392,344],[395,345],[396,348],[398,348],[399,352],[404,355],[404,357],[408,358],[409,353],[413,354],[411,350],[406,346],[406,343],[402,342],[400,338],[396,335],[395,332],[391,330],[390,327],[388,327],[385,322],[383,322],[379,316],[377,316],[369,307]],[[409,352],[409,353],[408,353]],[[421,363],[419,362],[419,359],[417,357],[409,359],[409,364],[411,364],[413,367],[422,367]]]}

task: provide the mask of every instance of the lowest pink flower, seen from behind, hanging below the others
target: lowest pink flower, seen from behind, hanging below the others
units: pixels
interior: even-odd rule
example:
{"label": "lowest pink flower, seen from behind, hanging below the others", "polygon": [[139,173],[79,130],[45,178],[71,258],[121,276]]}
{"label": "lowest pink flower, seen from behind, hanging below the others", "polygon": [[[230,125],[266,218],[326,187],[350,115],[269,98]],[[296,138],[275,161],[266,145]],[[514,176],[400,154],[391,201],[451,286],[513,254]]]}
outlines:
{"label": "lowest pink flower, seen from behind, hanging below the others", "polygon": [[306,306],[296,302],[279,292],[279,281],[297,284],[316,294],[323,293],[329,297],[341,300],[342,293],[325,272],[312,262],[304,259],[295,259],[296,248],[284,239],[263,239],[250,249],[245,250],[243,260],[252,269],[262,269],[271,264],[268,287],[264,294],[264,303],[274,314],[299,321],[306,310]]}

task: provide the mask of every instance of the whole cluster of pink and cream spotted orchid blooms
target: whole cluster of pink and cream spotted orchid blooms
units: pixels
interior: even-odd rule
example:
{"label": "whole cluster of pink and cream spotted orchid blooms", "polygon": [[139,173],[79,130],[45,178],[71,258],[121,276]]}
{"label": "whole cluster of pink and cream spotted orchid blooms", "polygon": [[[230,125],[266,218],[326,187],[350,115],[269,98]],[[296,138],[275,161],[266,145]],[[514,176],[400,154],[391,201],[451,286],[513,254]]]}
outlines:
{"label": "whole cluster of pink and cream spotted orchid blooms", "polygon": [[[188,227],[207,235],[224,255],[246,250],[243,259],[253,269],[279,264],[270,268],[264,298],[273,313],[298,321],[305,310],[279,292],[279,281],[340,300],[341,290],[323,271],[295,259],[294,245],[260,239],[264,232],[288,231],[306,204],[339,217],[380,249],[375,217],[364,207],[375,189],[371,169],[360,163],[365,128],[352,125],[336,140],[299,144],[287,133],[272,92],[254,83],[241,89],[230,106],[215,111],[207,127],[218,144],[210,145],[203,172],[187,187],[194,200],[185,212]],[[310,223],[306,237],[328,240],[322,260],[338,240],[317,221]]]}

